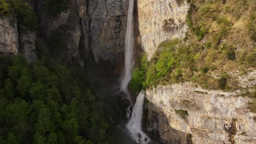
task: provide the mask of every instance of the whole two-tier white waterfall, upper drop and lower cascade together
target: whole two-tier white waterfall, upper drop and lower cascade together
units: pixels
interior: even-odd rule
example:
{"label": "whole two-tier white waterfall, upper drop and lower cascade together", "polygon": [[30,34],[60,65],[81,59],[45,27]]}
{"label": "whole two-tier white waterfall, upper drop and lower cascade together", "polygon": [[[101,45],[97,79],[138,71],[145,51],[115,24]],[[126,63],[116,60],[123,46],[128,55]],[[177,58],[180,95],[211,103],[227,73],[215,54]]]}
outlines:
{"label": "whole two-tier white waterfall, upper drop and lower cascade together", "polygon": [[[128,84],[131,80],[132,68],[134,65],[134,34],[133,34],[133,9],[134,0],[129,2],[129,10],[127,16],[127,29],[125,38],[125,71],[121,81],[121,90],[129,95]],[[150,141],[149,137],[142,131],[142,114],[144,92],[140,92],[136,103],[133,107],[132,115],[126,128],[130,131],[132,139],[137,143],[146,144]]]}

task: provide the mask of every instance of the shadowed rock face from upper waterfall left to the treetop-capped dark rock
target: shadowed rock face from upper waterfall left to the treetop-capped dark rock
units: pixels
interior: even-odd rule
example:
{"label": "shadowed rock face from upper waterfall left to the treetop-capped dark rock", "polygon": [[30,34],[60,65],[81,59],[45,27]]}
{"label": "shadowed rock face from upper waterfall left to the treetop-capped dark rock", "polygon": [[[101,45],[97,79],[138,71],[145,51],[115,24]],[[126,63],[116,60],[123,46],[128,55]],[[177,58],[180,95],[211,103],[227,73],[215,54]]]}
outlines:
{"label": "shadowed rock face from upper waterfall left to the treetop-capped dark rock", "polygon": [[[95,62],[120,60],[124,51],[128,0],[71,1],[70,8],[56,17],[44,14],[44,1],[37,3],[46,38],[61,32],[73,58]],[[66,38],[65,38],[66,37]]]}

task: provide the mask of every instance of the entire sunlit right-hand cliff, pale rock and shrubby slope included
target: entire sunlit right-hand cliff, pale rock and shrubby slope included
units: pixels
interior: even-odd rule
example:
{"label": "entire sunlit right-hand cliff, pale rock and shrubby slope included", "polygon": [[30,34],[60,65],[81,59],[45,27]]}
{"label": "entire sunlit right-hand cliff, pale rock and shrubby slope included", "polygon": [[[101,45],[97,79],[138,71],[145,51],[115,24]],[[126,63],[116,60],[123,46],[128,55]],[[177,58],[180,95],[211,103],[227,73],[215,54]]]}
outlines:
{"label": "entire sunlit right-hand cliff, pale rock and shrubby slope included", "polygon": [[[252,14],[248,10],[251,4],[243,9],[238,3],[241,1],[189,2],[191,5],[178,0],[138,0],[141,45],[148,60],[159,51],[145,74],[146,83],[153,81],[156,87],[148,85],[151,88],[146,91],[144,128],[159,143],[255,143],[256,115],[252,111],[255,110],[255,49],[251,49],[255,47],[255,41],[253,35],[247,38],[251,33],[246,28],[238,26],[244,35],[235,31],[241,21],[243,25],[255,22],[254,19],[244,19]],[[229,14],[228,10],[223,10],[226,7],[240,8],[226,19]],[[222,11],[221,15],[217,9]],[[238,15],[236,18],[235,13]],[[228,29],[224,29],[220,22],[223,19],[229,22]],[[223,33],[219,31],[221,28]],[[174,38],[183,39],[182,46],[172,47],[170,43],[158,49],[163,41],[168,43]],[[229,43],[232,40],[236,44]],[[234,57],[225,53],[226,45],[234,49],[230,52]],[[166,59],[160,56],[161,50],[165,52]],[[161,64],[168,63],[168,58],[178,51],[182,52],[173,57],[176,62],[170,62],[173,62],[172,67],[162,68]],[[211,51],[216,52],[215,57]],[[252,55],[252,60],[249,55]],[[163,69],[168,72],[161,80],[161,76],[152,79],[149,76],[160,75]],[[197,81],[200,75],[206,77]],[[220,88],[218,82],[223,75],[225,85],[228,79],[229,86]]]}

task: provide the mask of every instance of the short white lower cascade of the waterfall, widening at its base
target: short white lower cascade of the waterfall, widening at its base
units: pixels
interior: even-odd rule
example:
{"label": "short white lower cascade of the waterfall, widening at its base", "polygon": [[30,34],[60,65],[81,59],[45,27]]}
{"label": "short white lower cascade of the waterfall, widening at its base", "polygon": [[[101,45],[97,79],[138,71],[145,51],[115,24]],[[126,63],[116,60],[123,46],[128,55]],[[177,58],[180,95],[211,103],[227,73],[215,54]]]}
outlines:
{"label": "short white lower cascade of the waterfall, widening at its base", "polygon": [[126,128],[130,131],[132,139],[137,143],[146,144],[150,141],[149,137],[142,131],[142,114],[143,114],[143,102],[145,94],[141,91],[137,97],[134,109],[132,111],[131,119],[126,125]]}

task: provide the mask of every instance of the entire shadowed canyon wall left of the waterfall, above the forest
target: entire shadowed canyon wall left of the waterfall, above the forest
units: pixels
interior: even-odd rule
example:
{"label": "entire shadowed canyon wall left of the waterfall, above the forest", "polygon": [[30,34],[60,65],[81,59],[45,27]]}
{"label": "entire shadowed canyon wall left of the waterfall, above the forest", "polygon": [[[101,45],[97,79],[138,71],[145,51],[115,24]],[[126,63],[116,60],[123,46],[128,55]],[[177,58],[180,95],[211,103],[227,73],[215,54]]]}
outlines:
{"label": "entire shadowed canyon wall left of the waterfall, above the forest", "polygon": [[40,31],[21,33],[16,15],[1,17],[0,52],[24,53],[28,61],[35,61],[34,45],[39,34],[50,44],[63,43],[67,59],[78,60],[81,66],[88,59],[112,65],[123,62],[128,0],[72,0],[68,9],[56,15],[50,14],[46,1],[27,2],[38,15]]}

